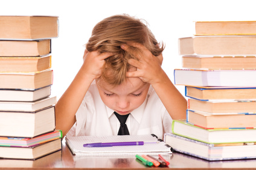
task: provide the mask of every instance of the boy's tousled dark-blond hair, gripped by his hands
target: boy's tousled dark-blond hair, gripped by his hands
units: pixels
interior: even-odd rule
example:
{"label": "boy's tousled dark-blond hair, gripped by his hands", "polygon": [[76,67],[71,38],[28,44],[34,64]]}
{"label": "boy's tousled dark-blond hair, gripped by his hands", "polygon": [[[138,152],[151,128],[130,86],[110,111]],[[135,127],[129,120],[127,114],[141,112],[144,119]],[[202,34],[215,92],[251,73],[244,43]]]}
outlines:
{"label": "boy's tousled dark-blond hair, gripped by his hands", "polygon": [[[86,43],[89,52],[98,50],[100,53],[109,52],[113,55],[105,59],[106,64],[100,78],[110,85],[120,85],[126,79],[126,72],[131,67],[128,59],[135,58],[131,53],[121,49],[122,44],[136,42],[144,45],[149,51],[158,56],[164,50],[164,46],[156,41],[146,24],[140,19],[127,14],[115,15],[101,20],[92,29],[91,38]],[[135,47],[130,50],[139,52]]]}

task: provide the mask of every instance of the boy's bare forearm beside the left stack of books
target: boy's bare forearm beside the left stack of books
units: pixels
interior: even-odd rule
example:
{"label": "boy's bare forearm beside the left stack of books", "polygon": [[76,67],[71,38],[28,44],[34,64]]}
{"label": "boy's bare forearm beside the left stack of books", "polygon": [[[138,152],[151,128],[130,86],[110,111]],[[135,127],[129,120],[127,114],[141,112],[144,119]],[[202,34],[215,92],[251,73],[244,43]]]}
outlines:
{"label": "boy's bare forearm beside the left stack of books", "polygon": [[63,132],[63,136],[68,133],[75,123],[75,113],[88,91],[93,79],[86,77],[83,73],[83,68],[80,68],[71,85],[58,100],[56,111],[56,129],[60,129]]}

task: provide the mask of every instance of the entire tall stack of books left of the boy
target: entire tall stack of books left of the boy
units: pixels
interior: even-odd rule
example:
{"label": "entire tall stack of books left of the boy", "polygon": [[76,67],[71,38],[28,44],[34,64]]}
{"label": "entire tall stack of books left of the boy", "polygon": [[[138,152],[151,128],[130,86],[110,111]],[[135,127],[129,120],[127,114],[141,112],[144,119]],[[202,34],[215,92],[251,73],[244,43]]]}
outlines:
{"label": "entire tall stack of books left of the boy", "polygon": [[62,148],[51,97],[58,29],[58,17],[0,16],[0,157],[37,159]]}

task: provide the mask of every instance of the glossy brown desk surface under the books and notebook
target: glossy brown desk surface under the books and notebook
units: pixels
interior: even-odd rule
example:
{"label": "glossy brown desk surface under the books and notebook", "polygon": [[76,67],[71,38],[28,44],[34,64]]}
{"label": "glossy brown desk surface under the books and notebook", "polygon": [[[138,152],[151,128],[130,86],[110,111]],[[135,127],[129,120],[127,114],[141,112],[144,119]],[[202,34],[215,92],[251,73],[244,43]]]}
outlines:
{"label": "glossy brown desk surface under the books and notebook", "polygon": [[[50,154],[37,160],[10,160],[0,159],[0,168],[10,169],[144,169],[135,159],[135,156],[73,156],[65,141],[62,142],[62,151]],[[164,156],[169,160],[171,169],[256,169],[256,159],[225,160],[209,162],[186,154],[174,152]],[[154,167],[155,169],[155,167]],[[162,169],[162,168],[159,168]],[[166,169],[166,168],[164,168]]]}

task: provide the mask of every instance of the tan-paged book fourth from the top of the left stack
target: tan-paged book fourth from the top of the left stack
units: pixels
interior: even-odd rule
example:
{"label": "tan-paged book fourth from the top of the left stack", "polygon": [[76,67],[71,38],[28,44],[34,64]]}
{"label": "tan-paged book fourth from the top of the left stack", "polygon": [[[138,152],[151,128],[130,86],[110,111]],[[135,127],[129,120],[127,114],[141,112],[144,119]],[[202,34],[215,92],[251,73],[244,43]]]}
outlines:
{"label": "tan-paged book fourth from the top of the left stack", "polygon": [[36,90],[53,84],[53,70],[0,73],[0,89]]}

